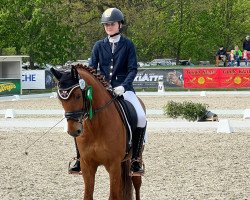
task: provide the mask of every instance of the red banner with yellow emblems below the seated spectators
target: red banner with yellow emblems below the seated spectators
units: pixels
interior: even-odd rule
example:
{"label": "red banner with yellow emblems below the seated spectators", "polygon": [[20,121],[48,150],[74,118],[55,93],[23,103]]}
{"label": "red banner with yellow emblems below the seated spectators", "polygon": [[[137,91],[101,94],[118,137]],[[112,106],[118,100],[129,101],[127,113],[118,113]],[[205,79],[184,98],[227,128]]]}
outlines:
{"label": "red banner with yellow emblems below the seated spectators", "polygon": [[249,88],[250,68],[184,68],[184,88]]}

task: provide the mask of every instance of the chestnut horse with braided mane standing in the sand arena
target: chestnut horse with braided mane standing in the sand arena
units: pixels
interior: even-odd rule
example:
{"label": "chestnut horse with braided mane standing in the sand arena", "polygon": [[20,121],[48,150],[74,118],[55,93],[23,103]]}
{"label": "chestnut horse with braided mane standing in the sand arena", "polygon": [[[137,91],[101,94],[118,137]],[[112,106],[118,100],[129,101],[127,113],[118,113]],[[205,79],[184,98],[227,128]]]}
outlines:
{"label": "chestnut horse with braided mane standing in the sand arena", "polygon": [[[126,128],[115,96],[107,90],[109,84],[95,69],[81,64],[70,71],[51,68],[51,72],[58,80],[68,134],[76,139],[80,152],[84,200],[93,199],[95,174],[101,165],[109,174],[109,200],[130,200],[134,190],[136,200],[140,200],[142,179],[129,175],[131,154],[126,151]],[[126,154],[129,156],[124,159]]]}

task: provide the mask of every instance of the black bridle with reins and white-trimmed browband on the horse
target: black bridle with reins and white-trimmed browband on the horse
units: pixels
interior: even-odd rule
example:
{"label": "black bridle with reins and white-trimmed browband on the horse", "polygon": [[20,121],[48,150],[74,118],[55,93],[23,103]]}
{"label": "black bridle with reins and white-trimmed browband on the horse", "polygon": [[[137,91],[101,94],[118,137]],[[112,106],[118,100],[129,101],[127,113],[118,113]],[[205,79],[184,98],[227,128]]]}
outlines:
{"label": "black bridle with reins and white-trimmed browband on the horse", "polygon": [[[80,79],[83,80],[83,79]],[[64,116],[67,120],[78,121],[82,124],[83,120],[92,119],[93,115],[107,108],[111,103],[115,101],[117,96],[112,96],[112,98],[99,108],[92,109],[92,86],[82,87],[81,84],[76,84],[67,89],[58,88],[57,94],[63,100],[68,100],[71,96],[73,90],[80,88],[82,92],[83,108],[78,111],[68,111],[65,112]]]}

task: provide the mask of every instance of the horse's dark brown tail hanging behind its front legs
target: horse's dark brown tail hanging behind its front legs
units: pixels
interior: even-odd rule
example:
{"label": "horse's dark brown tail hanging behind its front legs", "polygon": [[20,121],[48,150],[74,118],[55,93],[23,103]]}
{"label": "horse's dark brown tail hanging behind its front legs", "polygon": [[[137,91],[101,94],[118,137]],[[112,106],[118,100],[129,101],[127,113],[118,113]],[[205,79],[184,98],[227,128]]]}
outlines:
{"label": "horse's dark brown tail hanging behind its front legs", "polygon": [[129,176],[130,172],[130,160],[123,161],[122,165],[122,194],[123,200],[132,200],[133,197],[133,190],[132,190],[132,179]]}

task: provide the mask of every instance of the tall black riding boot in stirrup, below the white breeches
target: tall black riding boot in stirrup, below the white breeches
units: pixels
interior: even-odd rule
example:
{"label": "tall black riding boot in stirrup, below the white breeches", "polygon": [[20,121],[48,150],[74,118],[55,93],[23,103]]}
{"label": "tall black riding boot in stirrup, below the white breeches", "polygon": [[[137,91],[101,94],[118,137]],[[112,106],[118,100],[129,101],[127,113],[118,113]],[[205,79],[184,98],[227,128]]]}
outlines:
{"label": "tall black riding boot in stirrup, below the white breeches", "polygon": [[142,145],[144,141],[144,135],[146,126],[144,128],[137,127],[132,138],[132,160],[131,160],[131,173],[132,175],[143,175],[144,169],[142,167],[141,155]]}

